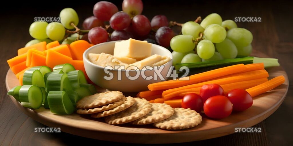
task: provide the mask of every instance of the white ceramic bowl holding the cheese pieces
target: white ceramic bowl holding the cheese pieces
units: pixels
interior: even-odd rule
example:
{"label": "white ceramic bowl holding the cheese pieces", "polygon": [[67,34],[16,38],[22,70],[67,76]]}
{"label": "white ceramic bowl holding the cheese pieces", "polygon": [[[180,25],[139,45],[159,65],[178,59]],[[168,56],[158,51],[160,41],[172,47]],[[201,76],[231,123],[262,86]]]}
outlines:
{"label": "white ceramic bowl holding the cheese pieces", "polygon": [[[88,60],[88,54],[89,53],[107,53],[113,55],[114,51],[114,46],[115,42],[117,41],[110,41],[110,42],[105,42],[101,44],[97,44],[95,46],[92,46],[88,48],[84,54],[83,54],[83,59],[84,59],[84,68],[86,70],[86,74],[88,77],[93,81],[96,85],[109,89],[112,91],[121,91],[121,92],[139,92],[139,91],[145,91],[148,90],[147,86],[151,83],[156,83],[163,81],[160,78],[157,80],[154,79],[154,69],[149,70],[149,69],[144,69],[145,72],[144,74],[149,77],[153,76],[152,79],[146,80],[142,77],[140,74],[139,77],[135,80],[131,80],[127,78],[126,76],[126,71],[125,70],[120,70],[118,71],[117,69],[110,69],[109,71],[113,73],[113,79],[107,80],[104,79],[105,76],[109,76],[108,74],[105,73],[104,67],[98,66],[96,64],[93,64]],[[172,54],[169,50],[166,48],[152,44],[151,47],[151,54],[158,54],[162,56],[168,56],[171,58],[169,62],[166,64],[162,65],[164,66],[163,70],[161,71],[162,76],[164,77],[164,80],[167,79],[167,73],[172,65]],[[142,70],[140,70],[142,71]],[[118,73],[121,72],[121,80],[118,80]],[[141,73],[141,72],[140,72]],[[137,74],[135,70],[130,70],[129,75],[134,77]]]}

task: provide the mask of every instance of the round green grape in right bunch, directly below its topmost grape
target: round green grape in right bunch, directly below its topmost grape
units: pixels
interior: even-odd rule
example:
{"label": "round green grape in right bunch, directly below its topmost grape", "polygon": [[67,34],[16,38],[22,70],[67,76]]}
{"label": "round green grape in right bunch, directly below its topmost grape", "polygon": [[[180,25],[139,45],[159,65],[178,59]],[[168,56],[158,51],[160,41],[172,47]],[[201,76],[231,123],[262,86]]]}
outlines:
{"label": "round green grape in right bunch, directly below its topmost grape", "polygon": [[205,39],[208,39],[213,43],[220,43],[226,38],[227,32],[221,25],[211,24],[205,28],[203,34],[205,35]]}

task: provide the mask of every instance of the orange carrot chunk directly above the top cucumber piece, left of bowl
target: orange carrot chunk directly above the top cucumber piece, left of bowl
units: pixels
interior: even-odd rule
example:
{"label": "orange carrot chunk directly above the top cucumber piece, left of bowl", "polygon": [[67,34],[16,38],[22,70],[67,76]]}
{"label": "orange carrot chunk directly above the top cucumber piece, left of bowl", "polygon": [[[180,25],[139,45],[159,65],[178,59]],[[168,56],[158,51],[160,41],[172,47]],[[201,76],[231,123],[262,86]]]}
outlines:
{"label": "orange carrot chunk directly above the top cucumber piece, left of bowl", "polygon": [[56,51],[53,51],[51,49],[47,51],[46,65],[48,67],[53,68],[55,65],[64,64],[64,63],[72,64],[72,58],[66,55],[63,55],[61,53],[58,53]]}

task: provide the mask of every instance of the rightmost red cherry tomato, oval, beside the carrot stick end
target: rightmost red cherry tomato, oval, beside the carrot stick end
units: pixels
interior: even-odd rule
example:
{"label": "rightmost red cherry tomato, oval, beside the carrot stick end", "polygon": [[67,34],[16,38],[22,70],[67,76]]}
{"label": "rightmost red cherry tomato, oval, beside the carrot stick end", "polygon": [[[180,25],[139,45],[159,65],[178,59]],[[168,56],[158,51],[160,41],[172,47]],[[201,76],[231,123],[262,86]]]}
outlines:
{"label": "rightmost red cherry tomato, oval, beside the carrot stick end", "polygon": [[232,102],[234,111],[244,111],[253,104],[251,95],[243,89],[229,91],[226,96]]}

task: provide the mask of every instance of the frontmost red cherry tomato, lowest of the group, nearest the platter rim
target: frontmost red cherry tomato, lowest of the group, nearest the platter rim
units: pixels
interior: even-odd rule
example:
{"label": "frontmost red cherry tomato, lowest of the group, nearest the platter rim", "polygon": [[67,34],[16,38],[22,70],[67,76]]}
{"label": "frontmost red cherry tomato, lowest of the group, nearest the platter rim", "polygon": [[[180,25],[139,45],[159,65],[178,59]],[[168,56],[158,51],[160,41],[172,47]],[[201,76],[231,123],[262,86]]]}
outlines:
{"label": "frontmost red cherry tomato, lowest of the group, nearest the platter rim", "polygon": [[232,103],[226,96],[217,95],[208,98],[203,105],[207,117],[222,119],[228,117],[232,112]]}

